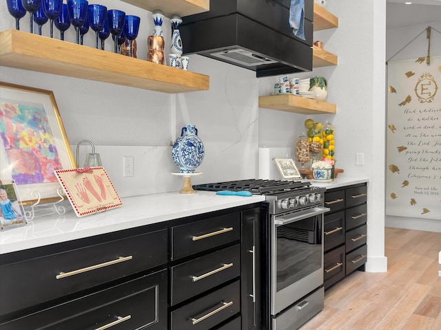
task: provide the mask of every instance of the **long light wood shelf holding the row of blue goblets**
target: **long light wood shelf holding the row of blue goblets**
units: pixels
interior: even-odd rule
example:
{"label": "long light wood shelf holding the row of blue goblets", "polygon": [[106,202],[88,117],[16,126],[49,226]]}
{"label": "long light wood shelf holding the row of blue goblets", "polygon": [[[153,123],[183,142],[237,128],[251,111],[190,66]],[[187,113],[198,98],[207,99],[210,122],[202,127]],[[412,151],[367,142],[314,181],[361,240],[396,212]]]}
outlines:
{"label": "long light wood shelf holding the row of blue goblets", "polygon": [[0,32],[0,65],[164,93],[209,89],[209,76],[18,30]]}

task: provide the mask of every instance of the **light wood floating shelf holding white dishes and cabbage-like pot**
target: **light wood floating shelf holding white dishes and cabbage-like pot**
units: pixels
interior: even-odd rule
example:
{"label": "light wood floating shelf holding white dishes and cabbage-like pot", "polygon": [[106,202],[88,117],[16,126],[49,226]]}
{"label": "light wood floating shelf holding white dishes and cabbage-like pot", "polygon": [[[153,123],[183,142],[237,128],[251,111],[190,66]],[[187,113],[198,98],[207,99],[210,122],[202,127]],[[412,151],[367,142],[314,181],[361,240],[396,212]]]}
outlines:
{"label": "light wood floating shelf holding white dishes and cabbage-like pot", "polygon": [[260,96],[259,107],[305,114],[337,113],[336,104],[302,98],[293,94]]}

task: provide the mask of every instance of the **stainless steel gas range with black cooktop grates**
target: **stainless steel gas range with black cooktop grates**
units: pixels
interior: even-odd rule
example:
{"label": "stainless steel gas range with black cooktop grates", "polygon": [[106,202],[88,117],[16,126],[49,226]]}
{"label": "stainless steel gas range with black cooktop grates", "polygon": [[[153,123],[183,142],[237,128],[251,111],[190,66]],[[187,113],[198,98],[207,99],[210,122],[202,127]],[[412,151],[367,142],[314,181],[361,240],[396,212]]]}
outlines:
{"label": "stainless steel gas range with black cooktop grates", "polygon": [[[322,310],[325,188],[304,181],[249,179],[193,186],[196,190],[247,190],[265,195],[261,228],[263,329],[294,330]],[[245,198],[245,197],[244,197]]]}

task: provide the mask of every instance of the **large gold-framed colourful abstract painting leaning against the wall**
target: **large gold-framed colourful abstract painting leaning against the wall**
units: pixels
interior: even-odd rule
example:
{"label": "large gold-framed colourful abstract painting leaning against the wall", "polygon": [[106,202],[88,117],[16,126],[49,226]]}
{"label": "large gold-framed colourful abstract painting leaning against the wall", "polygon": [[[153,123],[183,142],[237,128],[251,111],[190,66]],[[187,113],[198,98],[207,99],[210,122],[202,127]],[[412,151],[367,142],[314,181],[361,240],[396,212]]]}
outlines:
{"label": "large gold-framed colourful abstract painting leaning against the wall", "polygon": [[44,203],[60,199],[54,170],[74,167],[52,91],[0,82],[0,179],[17,184],[24,205]]}

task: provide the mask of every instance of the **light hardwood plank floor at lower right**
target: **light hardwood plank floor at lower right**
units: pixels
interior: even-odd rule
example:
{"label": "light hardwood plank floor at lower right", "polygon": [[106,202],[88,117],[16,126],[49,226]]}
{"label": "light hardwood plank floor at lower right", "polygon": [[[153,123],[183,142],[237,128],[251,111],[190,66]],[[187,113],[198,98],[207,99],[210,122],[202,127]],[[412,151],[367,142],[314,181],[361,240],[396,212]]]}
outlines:
{"label": "light hardwood plank floor at lower right", "polygon": [[353,272],[300,330],[440,330],[441,233],[386,228],[384,273]]}

